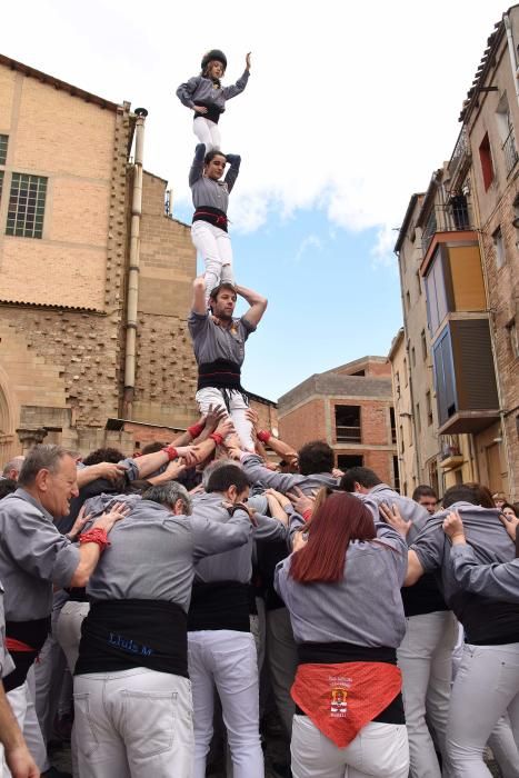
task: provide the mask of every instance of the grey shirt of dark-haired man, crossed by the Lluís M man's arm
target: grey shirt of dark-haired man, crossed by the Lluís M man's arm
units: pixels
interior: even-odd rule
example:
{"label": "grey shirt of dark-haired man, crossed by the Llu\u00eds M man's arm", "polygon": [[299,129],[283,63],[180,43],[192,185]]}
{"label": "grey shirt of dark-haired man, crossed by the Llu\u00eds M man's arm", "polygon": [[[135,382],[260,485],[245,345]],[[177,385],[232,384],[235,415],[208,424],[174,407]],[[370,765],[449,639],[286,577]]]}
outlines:
{"label": "grey shirt of dark-haired man, crossed by the Llu\u00eds M man's arm", "polygon": [[[223,496],[218,492],[198,495],[193,499],[193,517],[226,525],[229,513],[222,502]],[[287,527],[278,519],[256,513],[256,520],[258,526],[253,527],[253,533],[247,543],[197,562],[194,580],[202,584],[229,580],[248,584],[252,577],[253,541],[287,538]]]}

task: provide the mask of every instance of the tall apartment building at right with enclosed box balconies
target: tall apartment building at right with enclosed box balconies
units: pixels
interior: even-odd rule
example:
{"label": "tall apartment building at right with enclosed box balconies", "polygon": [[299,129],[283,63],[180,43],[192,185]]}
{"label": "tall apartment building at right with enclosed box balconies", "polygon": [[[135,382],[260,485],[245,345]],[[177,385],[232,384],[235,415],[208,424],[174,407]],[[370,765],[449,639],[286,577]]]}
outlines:
{"label": "tall apartment building at right with enclosed box balconies", "polygon": [[451,158],[411,197],[396,245],[406,353],[397,337],[390,360],[397,392],[406,359],[400,403],[419,440],[401,480],[440,493],[478,480],[519,497],[518,43],[515,6],[488,40]]}

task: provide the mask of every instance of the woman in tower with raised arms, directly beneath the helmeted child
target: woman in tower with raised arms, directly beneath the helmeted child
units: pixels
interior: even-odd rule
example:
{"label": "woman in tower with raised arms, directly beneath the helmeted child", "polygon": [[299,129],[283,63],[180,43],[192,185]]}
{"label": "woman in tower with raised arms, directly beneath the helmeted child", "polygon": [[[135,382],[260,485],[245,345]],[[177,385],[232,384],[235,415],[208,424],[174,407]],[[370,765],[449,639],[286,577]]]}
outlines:
{"label": "woman in tower with raised arms, directly beneath the helmeted child", "polygon": [[[218,149],[206,153],[204,143],[199,143],[189,171],[194,213],[191,240],[206,266],[206,299],[222,281],[234,282],[232,249],[227,232],[229,193],[240,171],[241,158],[224,154]],[[226,167],[229,169],[224,178]]]}

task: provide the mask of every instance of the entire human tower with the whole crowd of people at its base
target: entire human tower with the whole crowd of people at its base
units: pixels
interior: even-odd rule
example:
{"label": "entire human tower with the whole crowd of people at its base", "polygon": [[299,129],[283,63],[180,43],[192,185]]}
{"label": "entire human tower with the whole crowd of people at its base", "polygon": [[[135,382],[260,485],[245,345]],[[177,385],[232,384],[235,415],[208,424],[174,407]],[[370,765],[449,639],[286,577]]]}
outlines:
{"label": "entire human tower with the whole crowd of people at its base", "polygon": [[39,445],[3,468],[1,777],[63,778],[59,736],[74,778],[203,778],[219,755],[263,778],[277,719],[281,776],[482,778],[490,746],[519,778],[517,506],[478,483],[400,496],[249,407],[267,299],[234,285],[240,160],[217,131],[246,64],[226,91],[213,50],[178,91],[201,140],[198,422],[132,457]]}

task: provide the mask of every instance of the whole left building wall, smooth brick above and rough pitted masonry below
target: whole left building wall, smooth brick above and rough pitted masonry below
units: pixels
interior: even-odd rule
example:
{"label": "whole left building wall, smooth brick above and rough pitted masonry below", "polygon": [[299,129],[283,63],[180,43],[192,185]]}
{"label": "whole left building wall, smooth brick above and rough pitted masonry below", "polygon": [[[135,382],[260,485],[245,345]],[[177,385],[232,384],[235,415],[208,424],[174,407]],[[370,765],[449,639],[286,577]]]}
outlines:
{"label": "whole left building wall, smooth brick above and rough pitted masonry below", "polygon": [[11,171],[49,179],[42,239],[6,236],[7,188],[0,203],[2,431],[16,446],[20,425],[59,417],[84,451],[120,409],[129,104],[102,109],[3,66],[0,86],[4,187]]}

